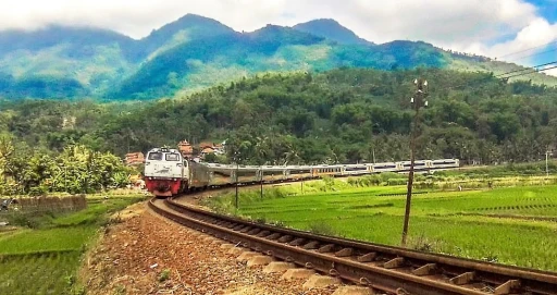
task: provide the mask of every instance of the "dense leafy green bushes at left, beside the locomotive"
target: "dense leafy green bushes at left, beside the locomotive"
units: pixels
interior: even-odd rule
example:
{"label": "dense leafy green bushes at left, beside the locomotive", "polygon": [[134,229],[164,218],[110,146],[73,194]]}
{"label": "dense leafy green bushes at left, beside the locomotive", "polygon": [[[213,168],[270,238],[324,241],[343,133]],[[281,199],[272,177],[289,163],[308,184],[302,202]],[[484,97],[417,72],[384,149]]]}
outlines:
{"label": "dense leafy green bushes at left, beside the locomotive", "polygon": [[109,152],[92,151],[85,146],[67,146],[54,157],[36,149],[17,149],[17,152],[13,152],[15,148],[10,138],[3,137],[0,142],[0,149],[3,150],[0,151],[0,194],[3,195],[94,193],[128,184],[131,171]]}

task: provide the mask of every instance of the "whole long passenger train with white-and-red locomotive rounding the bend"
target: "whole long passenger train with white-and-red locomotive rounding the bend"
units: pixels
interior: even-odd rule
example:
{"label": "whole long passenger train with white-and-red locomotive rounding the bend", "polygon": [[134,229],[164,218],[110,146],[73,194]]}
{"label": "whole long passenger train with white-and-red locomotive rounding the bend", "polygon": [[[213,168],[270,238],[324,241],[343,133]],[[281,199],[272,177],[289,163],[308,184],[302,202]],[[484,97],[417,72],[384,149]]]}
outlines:
{"label": "whole long passenger train with white-and-red locomotive rounding the bend", "polygon": [[[458,159],[417,160],[416,171],[459,168]],[[145,159],[144,181],[156,197],[173,197],[208,187],[278,183],[329,176],[405,173],[410,161],[319,165],[240,165],[205,163],[185,159],[177,149],[153,148]]]}

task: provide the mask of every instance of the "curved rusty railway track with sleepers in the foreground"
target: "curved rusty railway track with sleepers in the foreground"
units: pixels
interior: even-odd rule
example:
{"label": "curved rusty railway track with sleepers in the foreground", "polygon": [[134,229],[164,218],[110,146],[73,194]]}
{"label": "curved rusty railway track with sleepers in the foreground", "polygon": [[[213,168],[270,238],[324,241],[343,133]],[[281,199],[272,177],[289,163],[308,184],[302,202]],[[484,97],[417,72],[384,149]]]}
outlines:
{"label": "curved rusty railway track with sleepers in the foreground", "polygon": [[557,273],[255,223],[151,199],[156,212],[218,238],[387,294],[557,294]]}

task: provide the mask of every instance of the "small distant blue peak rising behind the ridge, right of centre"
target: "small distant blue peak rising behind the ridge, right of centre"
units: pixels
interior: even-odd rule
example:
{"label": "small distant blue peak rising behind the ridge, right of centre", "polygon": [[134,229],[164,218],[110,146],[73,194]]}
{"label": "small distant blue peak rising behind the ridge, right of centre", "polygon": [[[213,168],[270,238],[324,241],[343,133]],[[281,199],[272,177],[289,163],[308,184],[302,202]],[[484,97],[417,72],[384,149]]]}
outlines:
{"label": "small distant blue peak rising behind the ridge, right of centre", "polygon": [[297,24],[293,28],[324,37],[343,45],[372,45],[372,42],[358,37],[354,32],[331,19],[320,19]]}

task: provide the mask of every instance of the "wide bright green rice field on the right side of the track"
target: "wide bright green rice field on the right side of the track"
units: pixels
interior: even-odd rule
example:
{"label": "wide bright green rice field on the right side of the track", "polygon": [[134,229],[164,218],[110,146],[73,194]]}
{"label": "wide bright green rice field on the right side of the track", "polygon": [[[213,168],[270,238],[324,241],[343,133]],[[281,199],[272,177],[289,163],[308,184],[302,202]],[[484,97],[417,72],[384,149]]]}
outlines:
{"label": "wide bright green rice field on the right side of the track", "polygon": [[[239,213],[259,221],[295,229],[398,246],[406,196],[405,186],[350,188],[322,181],[258,190],[244,188]],[[344,187],[344,188],[343,188]],[[219,210],[235,212],[234,195],[210,201]],[[557,186],[430,192],[412,198],[409,246],[460,257],[557,271]],[[533,220],[539,219],[539,220]],[[549,220],[543,220],[549,219]]]}

